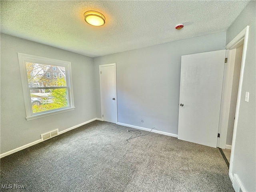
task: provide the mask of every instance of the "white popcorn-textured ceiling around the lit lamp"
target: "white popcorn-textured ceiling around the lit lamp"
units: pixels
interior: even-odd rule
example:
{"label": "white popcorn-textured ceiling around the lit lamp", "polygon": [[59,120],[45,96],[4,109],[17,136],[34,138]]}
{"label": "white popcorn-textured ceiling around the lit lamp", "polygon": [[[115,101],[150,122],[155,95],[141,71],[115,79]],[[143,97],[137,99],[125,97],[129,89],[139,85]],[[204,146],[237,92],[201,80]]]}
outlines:
{"label": "white popcorn-textured ceiling around the lit lamp", "polygon": [[[3,1],[1,32],[90,57],[224,32],[249,1]],[[106,24],[88,25],[96,10]],[[176,30],[178,23],[184,28]]]}

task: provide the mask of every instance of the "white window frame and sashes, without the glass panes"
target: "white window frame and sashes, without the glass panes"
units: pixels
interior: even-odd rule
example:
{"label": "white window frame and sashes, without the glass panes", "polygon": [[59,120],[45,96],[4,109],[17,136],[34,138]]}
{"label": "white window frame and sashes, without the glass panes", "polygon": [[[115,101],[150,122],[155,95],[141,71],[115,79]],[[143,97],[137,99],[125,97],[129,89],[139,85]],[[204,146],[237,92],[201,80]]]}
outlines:
{"label": "white window frame and sashes, without the glass panes", "polygon": [[[54,114],[59,114],[62,112],[71,111],[71,110],[75,109],[73,86],[72,86],[71,62],[57,60],[57,59],[51,59],[51,58],[45,58],[45,57],[40,57],[40,56],[34,56],[34,55],[29,55],[29,54],[24,54],[24,53],[18,53],[18,58],[19,58],[19,64],[20,64],[20,75],[21,75],[22,89],[23,89],[25,109],[26,109],[26,119],[28,121],[37,119],[37,118],[54,115]],[[63,86],[62,88],[67,89],[67,96],[68,96],[68,106],[67,107],[58,108],[58,109],[54,109],[54,110],[48,110],[48,111],[39,112],[39,113],[32,112],[32,103],[31,103],[31,98],[30,98],[30,90],[32,88],[30,88],[28,86],[26,62],[65,67],[66,86]],[[50,87],[50,88],[54,89],[56,87]]]}

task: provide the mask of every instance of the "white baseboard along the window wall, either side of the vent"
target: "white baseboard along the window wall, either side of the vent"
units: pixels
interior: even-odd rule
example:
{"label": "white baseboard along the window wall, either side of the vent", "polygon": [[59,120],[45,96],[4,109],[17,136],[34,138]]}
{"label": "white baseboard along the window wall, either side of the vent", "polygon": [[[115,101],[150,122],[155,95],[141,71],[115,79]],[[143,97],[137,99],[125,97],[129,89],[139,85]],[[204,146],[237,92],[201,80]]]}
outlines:
{"label": "white baseboard along the window wall, either side of the vent", "polygon": [[[62,133],[65,133],[65,132],[67,132],[67,131],[70,131],[70,130],[72,130],[72,129],[78,128],[78,127],[80,127],[80,126],[82,126],[82,125],[88,124],[88,123],[90,123],[90,122],[92,122],[92,121],[95,121],[95,120],[100,120],[100,121],[101,121],[101,119],[99,119],[99,118],[94,118],[94,119],[91,119],[91,120],[89,120],[89,121],[86,121],[86,122],[83,122],[83,123],[81,123],[81,124],[78,124],[78,125],[76,125],[76,126],[73,126],[73,127],[68,128],[68,129],[65,129],[65,130],[63,130],[63,131],[60,131],[58,135],[60,135],[60,134],[62,134]],[[40,135],[40,134],[39,134],[39,135]],[[36,141],[34,141],[34,142],[31,142],[31,143],[28,143],[28,144],[23,145],[23,146],[20,146],[20,147],[18,147],[18,148],[16,148],[16,149],[13,149],[13,150],[8,151],[8,152],[2,153],[2,154],[0,154],[0,158],[5,157],[5,156],[8,156],[8,155],[10,155],[10,154],[13,154],[13,153],[15,153],[15,152],[18,152],[18,151],[20,151],[20,150],[22,150],[22,149],[26,149],[26,148],[28,148],[28,147],[30,147],[30,146],[32,146],[32,145],[38,144],[38,143],[40,143],[40,142],[42,142],[41,139],[36,140]]]}

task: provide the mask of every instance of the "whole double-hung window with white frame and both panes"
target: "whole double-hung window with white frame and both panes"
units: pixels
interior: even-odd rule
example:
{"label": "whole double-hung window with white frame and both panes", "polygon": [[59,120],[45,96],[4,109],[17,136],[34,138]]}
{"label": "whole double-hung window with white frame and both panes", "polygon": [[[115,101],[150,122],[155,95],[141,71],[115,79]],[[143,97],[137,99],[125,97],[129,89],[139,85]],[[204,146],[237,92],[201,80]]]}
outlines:
{"label": "whole double-hung window with white frame and both panes", "polygon": [[[22,53],[18,57],[27,120],[74,110],[70,62]],[[50,76],[56,67],[62,78]]]}

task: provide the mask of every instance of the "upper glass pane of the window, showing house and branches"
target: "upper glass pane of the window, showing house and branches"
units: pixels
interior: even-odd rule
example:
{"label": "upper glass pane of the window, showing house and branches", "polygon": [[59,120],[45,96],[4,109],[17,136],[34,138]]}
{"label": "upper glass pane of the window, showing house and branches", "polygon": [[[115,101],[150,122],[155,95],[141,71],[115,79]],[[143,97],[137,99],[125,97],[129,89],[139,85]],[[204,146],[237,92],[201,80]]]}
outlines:
{"label": "upper glass pane of the window, showing house and branches", "polygon": [[[66,86],[65,67],[26,62],[26,69],[29,87]],[[58,73],[62,77],[57,77]]]}

